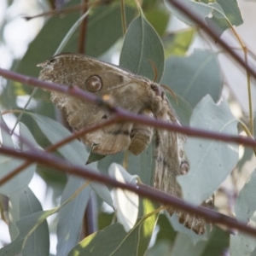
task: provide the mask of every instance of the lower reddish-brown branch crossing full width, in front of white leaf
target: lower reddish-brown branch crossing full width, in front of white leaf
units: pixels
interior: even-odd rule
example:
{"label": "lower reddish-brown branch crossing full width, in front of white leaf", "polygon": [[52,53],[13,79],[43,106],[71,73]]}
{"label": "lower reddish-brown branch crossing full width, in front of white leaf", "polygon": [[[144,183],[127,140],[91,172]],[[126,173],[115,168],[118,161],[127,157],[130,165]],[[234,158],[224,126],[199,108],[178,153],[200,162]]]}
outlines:
{"label": "lower reddish-brown branch crossing full width, in front of white leaf", "polygon": [[0,153],[15,156],[19,159],[36,160],[41,165],[52,166],[60,172],[66,172],[79,177],[84,177],[90,180],[94,180],[98,183],[108,183],[113,187],[127,189],[136,193],[137,195],[147,197],[151,200],[160,201],[161,203],[172,205],[173,207],[177,207],[178,209],[181,209],[185,212],[200,215],[214,224],[224,224],[231,229],[236,228],[237,230],[241,230],[244,233],[256,236],[256,229],[247,226],[246,223],[238,222],[236,218],[225,216],[224,214],[214,212],[205,207],[195,207],[194,205],[187,203],[173,195],[166,194],[165,192],[162,192],[158,189],[153,189],[143,184],[137,184],[137,186],[134,186],[131,184],[120,183],[117,180],[108,177],[108,175],[98,174],[88,167],[82,168],[81,166],[74,166],[67,160],[60,160],[55,156],[46,154],[39,150],[34,150],[33,152],[18,152],[13,148],[4,147],[0,148]]}

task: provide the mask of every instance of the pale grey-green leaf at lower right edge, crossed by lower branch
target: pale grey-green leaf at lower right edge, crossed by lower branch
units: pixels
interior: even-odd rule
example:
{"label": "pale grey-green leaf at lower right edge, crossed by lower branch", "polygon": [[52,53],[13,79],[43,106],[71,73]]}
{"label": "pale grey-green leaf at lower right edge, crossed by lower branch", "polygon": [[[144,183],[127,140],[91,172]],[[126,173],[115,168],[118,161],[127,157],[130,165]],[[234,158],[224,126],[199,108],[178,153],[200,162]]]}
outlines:
{"label": "pale grey-green leaf at lower right edge, crossed by lower branch", "polygon": [[[247,183],[241,189],[235,206],[236,218],[240,221],[255,225],[253,214],[256,211],[254,195],[256,193],[256,170],[248,178]],[[248,255],[256,247],[254,236],[248,236],[239,232],[236,236],[230,236],[230,251],[234,256]]]}

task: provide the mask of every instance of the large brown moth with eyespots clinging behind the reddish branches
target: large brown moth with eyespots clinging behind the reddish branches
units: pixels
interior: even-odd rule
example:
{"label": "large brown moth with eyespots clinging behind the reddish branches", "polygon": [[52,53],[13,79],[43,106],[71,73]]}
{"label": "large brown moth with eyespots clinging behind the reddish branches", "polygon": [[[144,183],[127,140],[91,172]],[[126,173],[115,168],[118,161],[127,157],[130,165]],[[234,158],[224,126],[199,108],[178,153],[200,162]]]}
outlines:
{"label": "large brown moth with eyespots clinging behind the reddish branches", "polygon": [[[78,85],[96,96],[109,95],[120,108],[180,125],[165,92],[159,84],[149,79],[79,54],[56,55],[38,66],[43,67],[39,78],[44,81]],[[64,110],[67,122],[75,131],[95,125],[111,116],[108,111],[95,104],[72,96],[53,91],[50,97],[58,108]],[[158,129],[154,132],[152,127],[145,125],[122,123],[85,134],[81,140],[89,146],[93,145],[92,151],[97,154],[116,154],[126,149],[132,154],[140,154],[148,147],[154,134],[156,137],[154,187],[181,198],[182,191],[176,182],[176,177],[189,171],[183,151],[186,137],[182,134]],[[209,207],[212,203],[210,200],[204,205]],[[203,218],[177,211],[173,207],[169,207],[167,211],[171,215],[177,212],[179,221],[195,233],[205,232],[206,223]]]}

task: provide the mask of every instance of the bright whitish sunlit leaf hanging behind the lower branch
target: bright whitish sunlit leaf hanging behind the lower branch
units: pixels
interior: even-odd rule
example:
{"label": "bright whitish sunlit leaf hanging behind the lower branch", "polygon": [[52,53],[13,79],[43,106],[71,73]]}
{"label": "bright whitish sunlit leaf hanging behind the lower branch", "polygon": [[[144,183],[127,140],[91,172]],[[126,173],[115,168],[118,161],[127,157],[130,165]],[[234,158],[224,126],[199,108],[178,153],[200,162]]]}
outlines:
{"label": "bright whitish sunlit leaf hanging behind the lower branch", "polygon": [[[109,176],[121,183],[136,185],[137,176],[131,176],[123,166],[112,164],[108,168]],[[113,204],[120,224],[126,232],[130,231],[137,221],[139,198],[134,192],[125,189],[113,189]]]}

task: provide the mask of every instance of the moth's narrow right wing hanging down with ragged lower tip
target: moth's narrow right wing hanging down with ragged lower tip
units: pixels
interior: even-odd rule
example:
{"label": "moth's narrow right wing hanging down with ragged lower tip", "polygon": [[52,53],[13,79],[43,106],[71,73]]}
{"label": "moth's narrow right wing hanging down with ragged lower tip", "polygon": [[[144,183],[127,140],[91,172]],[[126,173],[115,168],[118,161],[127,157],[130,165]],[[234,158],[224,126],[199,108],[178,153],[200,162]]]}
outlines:
{"label": "moth's narrow right wing hanging down with ragged lower tip", "polygon": [[[175,113],[169,102],[163,101],[158,110],[157,118],[180,125]],[[183,145],[186,137],[182,134],[157,130],[156,131],[156,164],[154,172],[154,186],[168,194],[182,198],[182,190],[176,181],[177,175],[183,175],[189,172],[189,165],[186,160]],[[202,203],[203,207],[212,208],[214,197]],[[167,212],[172,216],[173,212],[177,213],[179,222],[187,228],[194,230],[197,234],[205,232],[206,220],[200,216],[189,214],[173,207],[169,207]]]}

